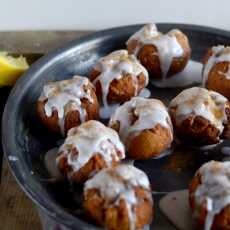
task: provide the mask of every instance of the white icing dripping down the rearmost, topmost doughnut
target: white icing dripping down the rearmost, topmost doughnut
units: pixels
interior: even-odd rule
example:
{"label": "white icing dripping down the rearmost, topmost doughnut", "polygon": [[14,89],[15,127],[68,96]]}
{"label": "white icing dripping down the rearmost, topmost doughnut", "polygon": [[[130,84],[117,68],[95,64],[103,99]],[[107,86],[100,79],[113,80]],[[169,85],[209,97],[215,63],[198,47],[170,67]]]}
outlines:
{"label": "white icing dripping down the rearmost, topmost doughnut", "polygon": [[138,45],[134,50],[135,55],[138,55],[143,45],[154,45],[157,48],[155,55],[158,55],[160,60],[162,78],[165,78],[173,58],[182,57],[184,54],[184,50],[175,36],[176,33],[181,32],[174,29],[167,34],[161,34],[157,31],[155,24],[147,24],[131,36],[127,44],[132,40],[138,41]]}

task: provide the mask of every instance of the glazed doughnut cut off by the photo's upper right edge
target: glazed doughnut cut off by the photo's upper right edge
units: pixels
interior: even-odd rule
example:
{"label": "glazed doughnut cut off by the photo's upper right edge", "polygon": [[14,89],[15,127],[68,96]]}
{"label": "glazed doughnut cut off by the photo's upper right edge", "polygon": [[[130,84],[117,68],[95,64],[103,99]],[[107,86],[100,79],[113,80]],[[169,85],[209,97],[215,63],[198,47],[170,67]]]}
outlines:
{"label": "glazed doughnut cut off by the photo's upper right edge", "polygon": [[230,47],[214,46],[204,58],[203,84],[230,99]]}

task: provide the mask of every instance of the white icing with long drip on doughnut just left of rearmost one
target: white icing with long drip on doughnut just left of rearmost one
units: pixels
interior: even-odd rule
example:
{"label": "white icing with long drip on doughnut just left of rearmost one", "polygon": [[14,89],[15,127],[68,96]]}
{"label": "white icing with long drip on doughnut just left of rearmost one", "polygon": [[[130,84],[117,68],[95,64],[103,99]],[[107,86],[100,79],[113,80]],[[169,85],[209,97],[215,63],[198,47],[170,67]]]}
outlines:
{"label": "white icing with long drip on doughnut just left of rearmost one", "polygon": [[[130,74],[135,85],[135,96],[138,93],[137,76],[143,73],[145,76],[145,86],[149,81],[147,70],[140,64],[134,55],[129,55],[127,50],[117,50],[110,53],[109,55],[101,58],[94,68],[101,73],[93,82],[96,84],[99,81],[101,84],[102,103],[105,107],[103,109],[105,112],[101,114],[111,115],[112,113],[107,102],[107,96],[109,93],[110,83],[114,79],[121,79],[125,74]],[[109,116],[103,118],[108,117]]]}

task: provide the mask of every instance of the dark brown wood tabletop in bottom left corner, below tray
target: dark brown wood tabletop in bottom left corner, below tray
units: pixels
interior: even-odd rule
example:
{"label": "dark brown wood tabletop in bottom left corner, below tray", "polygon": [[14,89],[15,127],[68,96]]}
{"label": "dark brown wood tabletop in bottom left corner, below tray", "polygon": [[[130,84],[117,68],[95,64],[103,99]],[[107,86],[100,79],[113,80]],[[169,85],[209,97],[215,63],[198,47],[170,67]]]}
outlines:
{"label": "dark brown wood tabletop in bottom left corner, below tray", "polygon": [[[38,213],[29,198],[21,190],[3,160],[0,185],[0,229],[41,230]],[[31,228],[31,226],[33,226]]]}

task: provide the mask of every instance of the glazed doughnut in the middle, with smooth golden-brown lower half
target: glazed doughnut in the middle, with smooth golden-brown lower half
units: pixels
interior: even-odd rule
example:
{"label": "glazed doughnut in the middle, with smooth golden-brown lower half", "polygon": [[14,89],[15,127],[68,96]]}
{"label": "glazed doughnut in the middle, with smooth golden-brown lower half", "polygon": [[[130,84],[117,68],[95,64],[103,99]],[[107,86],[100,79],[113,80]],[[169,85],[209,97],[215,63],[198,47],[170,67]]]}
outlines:
{"label": "glazed doughnut in the middle, with smooth golden-brown lower half", "polygon": [[170,116],[157,99],[132,98],[117,108],[109,126],[117,130],[133,159],[157,157],[173,140]]}

